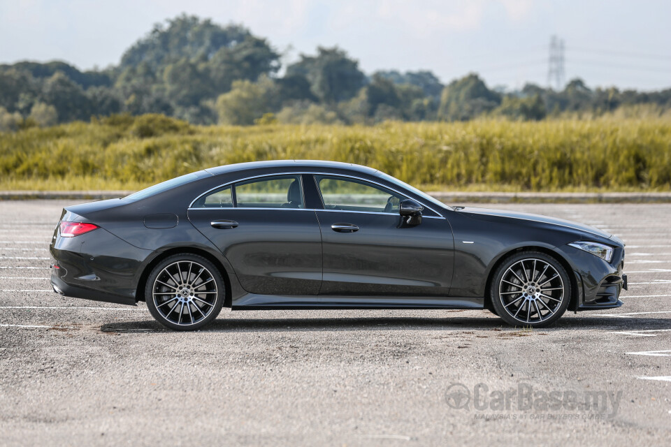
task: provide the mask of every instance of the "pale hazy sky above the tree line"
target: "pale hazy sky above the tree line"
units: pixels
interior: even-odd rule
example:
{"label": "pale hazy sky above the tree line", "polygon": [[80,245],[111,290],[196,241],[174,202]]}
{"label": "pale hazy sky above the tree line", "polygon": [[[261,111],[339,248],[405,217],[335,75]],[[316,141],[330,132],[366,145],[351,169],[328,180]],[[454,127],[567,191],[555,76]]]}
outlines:
{"label": "pale hazy sky above the tree line", "polygon": [[338,45],[363,71],[470,72],[490,87],[547,85],[551,36],[565,80],[671,87],[671,0],[0,0],[0,63],[118,64],[153,25],[181,13],[237,23],[284,54]]}

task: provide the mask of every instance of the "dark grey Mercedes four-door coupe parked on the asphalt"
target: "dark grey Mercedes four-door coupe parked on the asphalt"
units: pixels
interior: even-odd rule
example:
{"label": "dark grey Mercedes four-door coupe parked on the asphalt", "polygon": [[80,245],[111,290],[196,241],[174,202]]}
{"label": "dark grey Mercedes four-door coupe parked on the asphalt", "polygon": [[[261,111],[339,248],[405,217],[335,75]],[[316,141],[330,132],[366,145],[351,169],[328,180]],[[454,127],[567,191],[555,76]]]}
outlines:
{"label": "dark grey Mercedes four-door coupe parked on the asphalt", "polygon": [[222,307],[489,309],[544,327],[622,305],[624,244],[603,230],[449,206],[333,161],[208,168],[124,198],[65,207],[51,284],[195,330]]}

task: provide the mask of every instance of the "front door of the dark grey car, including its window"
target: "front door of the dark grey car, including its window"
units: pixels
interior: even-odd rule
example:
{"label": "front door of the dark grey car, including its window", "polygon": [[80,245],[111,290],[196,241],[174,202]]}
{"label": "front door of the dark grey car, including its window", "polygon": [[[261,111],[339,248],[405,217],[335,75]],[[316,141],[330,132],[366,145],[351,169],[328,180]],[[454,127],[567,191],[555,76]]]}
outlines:
{"label": "front door of the dark grey car, including its window", "polygon": [[419,225],[401,224],[405,197],[349,177],[315,175],[324,210],[324,277],[319,295],[445,297],[454,265],[452,229],[424,210]]}

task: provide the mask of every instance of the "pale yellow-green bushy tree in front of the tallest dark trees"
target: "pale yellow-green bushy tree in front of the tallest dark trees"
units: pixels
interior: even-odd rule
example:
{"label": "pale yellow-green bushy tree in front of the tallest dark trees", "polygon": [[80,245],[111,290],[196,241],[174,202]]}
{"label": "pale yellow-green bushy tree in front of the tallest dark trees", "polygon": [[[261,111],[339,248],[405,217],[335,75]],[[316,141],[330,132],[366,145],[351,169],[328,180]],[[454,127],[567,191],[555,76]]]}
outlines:
{"label": "pale yellow-green bushy tree in front of the tallest dark trees", "polygon": [[272,112],[277,103],[275,85],[269,78],[258,82],[237,80],[233,88],[217,98],[217,114],[222,124],[250,126],[254,120]]}

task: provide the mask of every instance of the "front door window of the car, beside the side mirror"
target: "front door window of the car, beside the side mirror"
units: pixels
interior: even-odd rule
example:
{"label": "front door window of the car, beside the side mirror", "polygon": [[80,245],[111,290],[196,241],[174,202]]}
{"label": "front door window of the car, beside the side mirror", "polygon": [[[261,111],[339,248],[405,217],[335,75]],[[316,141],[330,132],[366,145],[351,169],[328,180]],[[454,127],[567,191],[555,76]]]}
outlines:
{"label": "front door window of the car, beside the side mirror", "polygon": [[326,210],[398,213],[401,196],[367,182],[316,175]]}

